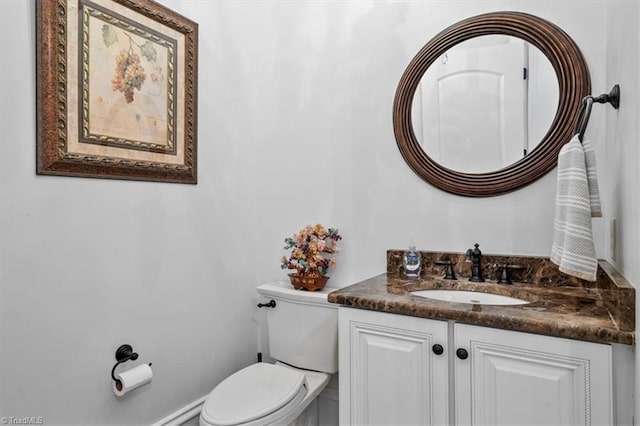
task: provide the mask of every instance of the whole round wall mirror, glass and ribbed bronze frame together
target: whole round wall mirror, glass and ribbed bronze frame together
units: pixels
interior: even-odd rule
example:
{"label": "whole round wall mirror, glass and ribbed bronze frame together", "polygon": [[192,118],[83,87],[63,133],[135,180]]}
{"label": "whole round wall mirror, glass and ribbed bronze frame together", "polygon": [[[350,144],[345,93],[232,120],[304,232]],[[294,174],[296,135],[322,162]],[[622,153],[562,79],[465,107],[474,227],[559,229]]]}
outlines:
{"label": "whole round wall mirror, glass and ribbed bronze frame together", "polygon": [[555,167],[589,92],[584,58],[560,28],[519,12],[476,16],[436,35],[407,67],[396,141],[440,189],[503,194]]}

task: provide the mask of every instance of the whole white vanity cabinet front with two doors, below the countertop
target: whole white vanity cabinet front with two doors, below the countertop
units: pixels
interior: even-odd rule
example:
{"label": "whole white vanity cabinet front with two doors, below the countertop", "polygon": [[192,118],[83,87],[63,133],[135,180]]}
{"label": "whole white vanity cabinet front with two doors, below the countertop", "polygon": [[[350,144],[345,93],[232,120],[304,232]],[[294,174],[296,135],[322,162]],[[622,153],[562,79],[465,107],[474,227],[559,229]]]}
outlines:
{"label": "whole white vanity cabinet front with two doors, below the countertop", "polygon": [[610,345],[339,312],[341,425],[613,424]]}

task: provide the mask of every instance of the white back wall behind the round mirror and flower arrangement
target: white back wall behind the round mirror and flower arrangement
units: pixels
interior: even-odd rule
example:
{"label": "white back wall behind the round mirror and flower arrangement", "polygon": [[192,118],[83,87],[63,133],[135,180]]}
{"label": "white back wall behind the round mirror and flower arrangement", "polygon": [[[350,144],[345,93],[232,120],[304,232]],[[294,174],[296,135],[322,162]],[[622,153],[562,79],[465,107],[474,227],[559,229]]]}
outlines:
{"label": "white back wall behind the round mirror and flower arrangement", "polygon": [[[259,209],[257,281],[283,276],[274,252],[282,253],[284,236],[314,221],[344,234],[330,281],[336,287],[382,272],[385,250],[412,240],[423,249],[461,251],[478,241],[487,253],[549,253],[555,173],[500,197],[437,190],[398,151],[393,96],[429,38],[460,19],[506,9],[564,28],[600,90],[603,3],[581,6],[579,20],[571,1],[164,3],[201,23],[201,146],[246,148]],[[604,113],[594,113],[590,132],[601,138],[603,123]],[[604,256],[601,222],[595,228]]]}

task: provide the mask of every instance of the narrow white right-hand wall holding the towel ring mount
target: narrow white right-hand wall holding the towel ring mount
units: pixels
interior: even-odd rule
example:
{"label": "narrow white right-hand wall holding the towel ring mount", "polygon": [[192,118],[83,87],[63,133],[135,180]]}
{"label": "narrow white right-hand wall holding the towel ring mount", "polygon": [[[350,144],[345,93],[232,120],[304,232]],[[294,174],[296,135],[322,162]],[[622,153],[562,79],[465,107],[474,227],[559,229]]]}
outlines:
{"label": "narrow white right-hand wall holding the towel ring mount", "polygon": [[[620,109],[607,108],[604,171],[605,223],[616,220],[616,241],[607,241],[607,258],[637,288],[640,284],[640,3],[607,4],[607,87],[620,84]],[[636,293],[636,330],[640,330],[640,292]],[[636,351],[635,418],[640,419],[640,353]],[[636,420],[637,422],[637,420]]]}

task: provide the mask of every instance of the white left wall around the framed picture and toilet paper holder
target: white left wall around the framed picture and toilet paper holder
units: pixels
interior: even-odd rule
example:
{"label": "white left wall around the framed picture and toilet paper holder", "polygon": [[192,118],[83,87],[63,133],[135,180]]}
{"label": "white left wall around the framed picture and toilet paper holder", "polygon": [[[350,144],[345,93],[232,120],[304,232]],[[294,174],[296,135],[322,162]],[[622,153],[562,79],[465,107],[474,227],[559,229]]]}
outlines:
{"label": "white left wall around the framed picture and toilet paper holder", "polygon": [[[34,4],[0,1],[0,413],[149,424],[255,360],[252,147],[226,135],[244,96],[202,61],[197,186],[36,176]],[[122,343],[155,377],[116,399]]]}

